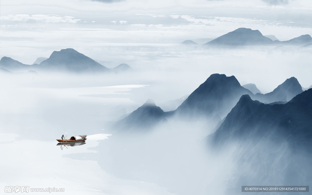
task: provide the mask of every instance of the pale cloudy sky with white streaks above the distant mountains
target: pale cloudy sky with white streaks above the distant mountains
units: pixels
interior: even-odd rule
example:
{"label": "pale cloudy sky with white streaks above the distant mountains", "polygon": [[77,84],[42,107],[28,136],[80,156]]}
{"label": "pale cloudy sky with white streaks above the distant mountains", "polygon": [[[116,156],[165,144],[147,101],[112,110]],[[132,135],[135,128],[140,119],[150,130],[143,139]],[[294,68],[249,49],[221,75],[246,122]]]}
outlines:
{"label": "pale cloudy sky with white streaks above the distant mountains", "polygon": [[2,0],[0,4],[0,57],[25,64],[64,48],[80,48],[87,56],[112,61],[96,51],[213,38],[239,27],[258,29],[281,41],[312,35],[310,0]]}

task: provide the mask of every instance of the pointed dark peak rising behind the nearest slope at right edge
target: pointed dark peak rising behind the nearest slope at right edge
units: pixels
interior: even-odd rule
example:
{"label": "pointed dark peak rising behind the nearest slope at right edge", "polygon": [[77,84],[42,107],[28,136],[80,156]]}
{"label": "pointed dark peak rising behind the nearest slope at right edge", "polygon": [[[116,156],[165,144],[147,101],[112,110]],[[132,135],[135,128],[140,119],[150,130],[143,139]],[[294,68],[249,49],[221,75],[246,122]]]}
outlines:
{"label": "pointed dark peak rising behind the nearest slope at right edge", "polygon": [[302,92],[302,87],[295,77],[286,79],[285,82],[278,85],[272,92],[267,94],[256,94],[251,96],[254,100],[263,103],[272,103],[277,101],[289,101]]}

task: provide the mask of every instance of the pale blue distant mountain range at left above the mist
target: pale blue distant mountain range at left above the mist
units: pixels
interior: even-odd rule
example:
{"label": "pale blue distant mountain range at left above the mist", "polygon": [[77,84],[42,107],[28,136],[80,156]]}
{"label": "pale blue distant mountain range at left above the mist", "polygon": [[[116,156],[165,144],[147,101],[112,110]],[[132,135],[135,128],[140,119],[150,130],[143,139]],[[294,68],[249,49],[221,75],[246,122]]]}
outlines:
{"label": "pale blue distant mountain range at left above the mist", "polygon": [[35,70],[72,73],[120,72],[131,69],[127,64],[120,64],[112,69],[106,68],[100,63],[71,48],[62,49],[61,51],[53,51],[49,58],[37,58],[35,62],[40,62],[40,64],[26,65],[13,60],[10,57],[2,57],[0,60],[0,67],[12,72]]}

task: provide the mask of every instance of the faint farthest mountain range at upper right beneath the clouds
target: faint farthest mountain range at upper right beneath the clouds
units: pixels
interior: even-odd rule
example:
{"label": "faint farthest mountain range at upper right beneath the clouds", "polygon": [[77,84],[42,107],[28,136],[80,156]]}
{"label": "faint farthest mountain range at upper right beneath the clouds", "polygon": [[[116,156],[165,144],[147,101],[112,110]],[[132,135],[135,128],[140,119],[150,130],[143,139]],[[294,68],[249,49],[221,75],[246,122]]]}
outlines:
{"label": "faint farthest mountain range at upper right beneath the clouds", "polygon": [[[193,42],[193,41],[192,41]],[[184,44],[191,44],[190,40],[184,41]],[[283,45],[283,46],[304,46],[312,43],[310,35],[301,35],[288,41],[279,41],[274,35],[263,36],[259,30],[250,28],[238,28],[235,31],[222,35],[205,45],[220,46],[244,46],[244,45]]]}

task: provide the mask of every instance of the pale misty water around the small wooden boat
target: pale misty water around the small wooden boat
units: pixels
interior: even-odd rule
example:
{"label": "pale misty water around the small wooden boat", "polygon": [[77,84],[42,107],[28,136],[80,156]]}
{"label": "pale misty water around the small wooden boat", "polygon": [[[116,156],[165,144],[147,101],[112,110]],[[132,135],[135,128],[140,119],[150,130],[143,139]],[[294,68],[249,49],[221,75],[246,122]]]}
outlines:
{"label": "pale misty water around the small wooden boat", "polygon": [[[151,45],[141,53],[116,46],[115,55],[138,56],[129,63],[132,72],[2,74],[0,188],[56,187],[65,188],[66,194],[224,194],[228,186],[241,185],[231,183],[237,146],[211,151],[202,141],[215,130],[209,121],[173,118],[143,134],[115,132],[112,121],[148,99],[161,105],[191,94],[213,73],[234,75],[241,85],[255,83],[262,93],[292,76],[309,87],[311,49],[273,49],[172,44]],[[88,136],[82,145],[57,146],[62,134]]]}

